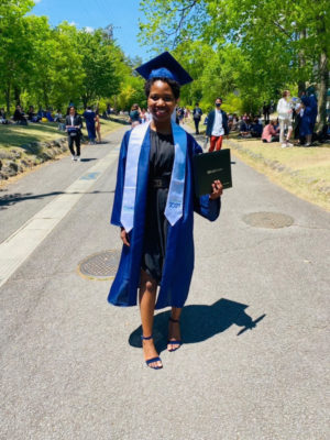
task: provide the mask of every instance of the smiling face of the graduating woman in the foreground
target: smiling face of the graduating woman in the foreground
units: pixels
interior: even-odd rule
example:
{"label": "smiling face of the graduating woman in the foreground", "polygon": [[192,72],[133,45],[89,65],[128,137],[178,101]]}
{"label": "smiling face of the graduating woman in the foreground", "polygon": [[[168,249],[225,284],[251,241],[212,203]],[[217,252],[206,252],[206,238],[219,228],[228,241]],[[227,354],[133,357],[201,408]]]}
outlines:
{"label": "smiling face of the graduating woman in the foreground", "polygon": [[175,110],[177,100],[173,95],[172,88],[167,82],[157,79],[151,87],[147,107],[153,119],[158,122],[170,120],[170,116]]}

